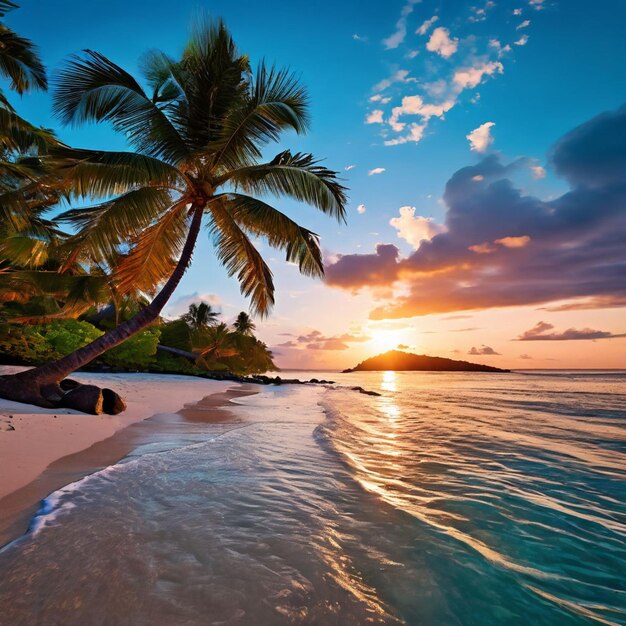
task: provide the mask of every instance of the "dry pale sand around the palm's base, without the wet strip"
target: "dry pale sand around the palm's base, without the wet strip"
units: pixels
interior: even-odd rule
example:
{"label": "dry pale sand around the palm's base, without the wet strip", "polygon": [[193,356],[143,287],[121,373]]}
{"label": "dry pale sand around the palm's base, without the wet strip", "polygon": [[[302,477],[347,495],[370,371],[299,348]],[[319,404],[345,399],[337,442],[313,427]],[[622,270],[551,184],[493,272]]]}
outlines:
{"label": "dry pale sand around the palm's base, without the wet strip", "polygon": [[[23,368],[0,367],[0,374],[19,369]],[[50,463],[68,454],[107,439],[134,422],[174,413],[235,384],[164,374],[79,373],[71,377],[117,391],[128,408],[120,415],[96,416],[0,398],[0,499],[32,482]]]}

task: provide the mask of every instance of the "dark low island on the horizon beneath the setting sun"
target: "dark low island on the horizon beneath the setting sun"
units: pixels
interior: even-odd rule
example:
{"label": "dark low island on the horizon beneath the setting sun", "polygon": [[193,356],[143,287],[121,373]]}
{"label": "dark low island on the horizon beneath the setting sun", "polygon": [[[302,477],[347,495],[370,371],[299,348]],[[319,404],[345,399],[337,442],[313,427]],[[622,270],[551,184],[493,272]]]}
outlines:
{"label": "dark low island on the horizon beneath the setting sun", "polygon": [[438,356],[425,354],[410,354],[400,350],[389,350],[359,363],[352,369],[343,370],[342,373],[350,372],[373,372],[392,370],[397,372],[420,371],[420,372],[509,372],[490,365],[469,363],[468,361],[455,361]]}

